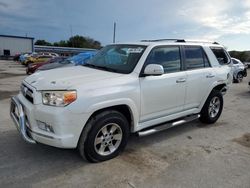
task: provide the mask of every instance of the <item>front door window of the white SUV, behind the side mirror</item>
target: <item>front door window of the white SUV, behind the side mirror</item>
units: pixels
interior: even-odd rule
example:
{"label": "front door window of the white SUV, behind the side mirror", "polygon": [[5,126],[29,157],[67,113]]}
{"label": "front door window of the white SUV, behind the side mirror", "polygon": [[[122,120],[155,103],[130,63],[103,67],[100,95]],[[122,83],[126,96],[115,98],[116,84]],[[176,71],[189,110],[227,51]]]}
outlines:
{"label": "front door window of the white SUV, behind the side mirror", "polygon": [[177,46],[161,46],[154,48],[147,57],[146,64],[163,66],[164,73],[181,70],[180,48]]}

